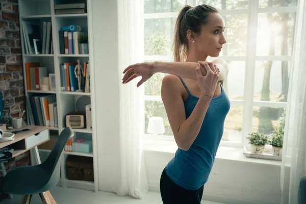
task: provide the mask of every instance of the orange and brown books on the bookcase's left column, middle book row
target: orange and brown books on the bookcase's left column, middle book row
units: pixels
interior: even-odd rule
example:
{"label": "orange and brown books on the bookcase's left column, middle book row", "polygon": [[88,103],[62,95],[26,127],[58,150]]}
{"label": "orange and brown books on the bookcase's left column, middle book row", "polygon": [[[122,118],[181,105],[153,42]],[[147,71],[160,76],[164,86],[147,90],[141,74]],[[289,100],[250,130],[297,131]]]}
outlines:
{"label": "orange and brown books on the bookcase's left column, middle book row", "polygon": [[39,62],[25,62],[24,67],[27,90],[41,90],[43,78],[48,77],[47,68],[41,67]]}

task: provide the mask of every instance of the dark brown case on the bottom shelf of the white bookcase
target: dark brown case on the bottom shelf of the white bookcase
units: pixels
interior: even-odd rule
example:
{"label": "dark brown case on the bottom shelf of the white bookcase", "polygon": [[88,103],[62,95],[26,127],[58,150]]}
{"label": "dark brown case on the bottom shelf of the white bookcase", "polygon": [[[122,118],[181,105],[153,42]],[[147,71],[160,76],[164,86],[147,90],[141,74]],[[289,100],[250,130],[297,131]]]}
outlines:
{"label": "dark brown case on the bottom shelf of the white bookcase", "polygon": [[93,158],[68,155],[66,160],[68,180],[93,182]]}

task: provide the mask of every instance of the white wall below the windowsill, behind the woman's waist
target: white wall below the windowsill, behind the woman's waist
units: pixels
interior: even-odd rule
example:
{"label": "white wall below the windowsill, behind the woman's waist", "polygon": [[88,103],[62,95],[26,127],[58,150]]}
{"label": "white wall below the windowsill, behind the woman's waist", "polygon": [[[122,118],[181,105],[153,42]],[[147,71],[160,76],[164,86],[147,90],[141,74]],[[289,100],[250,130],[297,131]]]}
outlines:
{"label": "white wall below the windowsill, behind the woman's waist", "polygon": [[[145,151],[149,190],[160,192],[160,175],[173,153]],[[203,199],[228,204],[281,203],[281,166],[216,158]]]}

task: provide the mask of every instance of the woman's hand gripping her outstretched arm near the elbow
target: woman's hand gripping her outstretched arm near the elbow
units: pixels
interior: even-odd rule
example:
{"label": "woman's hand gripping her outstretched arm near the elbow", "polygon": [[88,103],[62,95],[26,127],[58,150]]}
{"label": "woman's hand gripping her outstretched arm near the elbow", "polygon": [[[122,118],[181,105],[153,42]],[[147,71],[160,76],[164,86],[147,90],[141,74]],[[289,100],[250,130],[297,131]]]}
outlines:
{"label": "woman's hand gripping her outstretched arm near the elbow", "polygon": [[[219,80],[219,70],[212,62],[198,62],[199,65],[195,68],[198,84],[201,89],[201,94],[213,97],[217,82]],[[200,70],[200,65],[205,68],[206,75],[203,76]]]}

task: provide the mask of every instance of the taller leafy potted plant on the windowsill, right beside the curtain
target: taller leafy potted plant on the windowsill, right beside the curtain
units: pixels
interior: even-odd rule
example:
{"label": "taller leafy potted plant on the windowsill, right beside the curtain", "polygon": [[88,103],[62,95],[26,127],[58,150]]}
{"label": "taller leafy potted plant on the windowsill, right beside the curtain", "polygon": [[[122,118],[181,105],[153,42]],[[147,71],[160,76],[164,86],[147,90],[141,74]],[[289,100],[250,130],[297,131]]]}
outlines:
{"label": "taller leafy potted plant on the windowsill, right beside the curtain", "polygon": [[284,141],[284,129],[285,129],[285,112],[282,117],[278,118],[279,126],[271,134],[271,140],[269,143],[272,145],[273,156],[282,156],[283,141]]}

